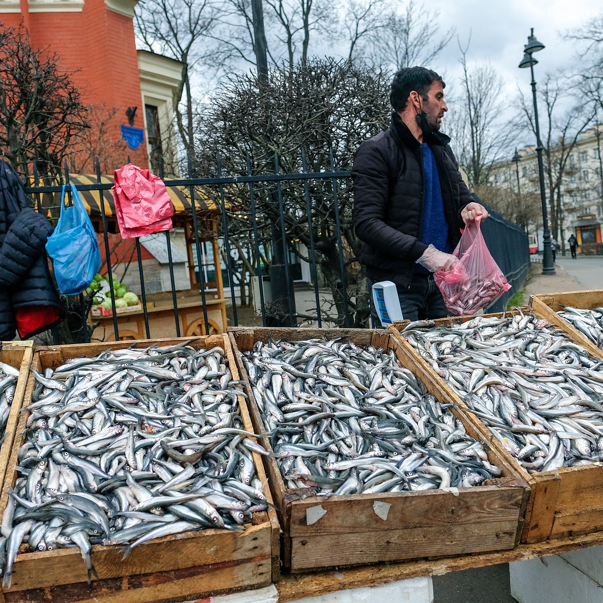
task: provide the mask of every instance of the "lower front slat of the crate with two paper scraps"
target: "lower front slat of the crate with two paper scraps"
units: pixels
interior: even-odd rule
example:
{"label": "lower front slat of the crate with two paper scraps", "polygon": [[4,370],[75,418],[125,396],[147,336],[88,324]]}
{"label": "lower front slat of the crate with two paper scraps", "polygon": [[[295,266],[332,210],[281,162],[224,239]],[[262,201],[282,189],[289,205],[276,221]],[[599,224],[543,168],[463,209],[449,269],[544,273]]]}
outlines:
{"label": "lower front slat of the crate with two paper scraps", "polygon": [[516,529],[509,522],[486,525],[449,525],[391,529],[387,538],[375,538],[374,532],[329,534],[292,538],[291,571],[311,570],[332,565],[338,551],[338,565],[376,563],[420,557],[458,555],[469,552],[499,551],[513,548]]}

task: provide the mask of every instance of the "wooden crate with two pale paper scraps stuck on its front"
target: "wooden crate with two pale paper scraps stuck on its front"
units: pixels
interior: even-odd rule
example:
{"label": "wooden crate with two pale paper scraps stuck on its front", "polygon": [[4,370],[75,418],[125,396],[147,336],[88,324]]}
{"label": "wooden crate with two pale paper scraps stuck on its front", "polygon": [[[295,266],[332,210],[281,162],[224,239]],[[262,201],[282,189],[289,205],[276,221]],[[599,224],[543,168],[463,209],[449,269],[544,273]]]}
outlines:
{"label": "wooden crate with two pale paper scraps stuck on its front", "polygon": [[[269,336],[288,341],[343,337],[359,346],[393,349],[402,364],[413,370],[402,360],[399,344],[385,330],[229,328],[229,336],[239,373],[245,379],[240,352],[250,350],[256,341],[267,342]],[[264,431],[250,384],[247,387],[254,427]],[[426,387],[444,401],[441,390],[430,384]],[[519,540],[529,494],[526,482],[518,479],[507,460],[480,437],[464,416],[456,409],[452,412],[461,418],[469,435],[482,440],[491,463],[502,469],[502,478],[480,487],[459,488],[458,492],[431,490],[324,497],[315,496],[311,488],[289,489],[276,461],[264,457],[283,528],[283,564],[292,572],[303,572],[320,567],[513,548]],[[262,443],[271,450],[267,440]],[[391,505],[386,521],[374,513],[373,504],[379,501]],[[318,505],[327,513],[308,525],[306,513]]]}

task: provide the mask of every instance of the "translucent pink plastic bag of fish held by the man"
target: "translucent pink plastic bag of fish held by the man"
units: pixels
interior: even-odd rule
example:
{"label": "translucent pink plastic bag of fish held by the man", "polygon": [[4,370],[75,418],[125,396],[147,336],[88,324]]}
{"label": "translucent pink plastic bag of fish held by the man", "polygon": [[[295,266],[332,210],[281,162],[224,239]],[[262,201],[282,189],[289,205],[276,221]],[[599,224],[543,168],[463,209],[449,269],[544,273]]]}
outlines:
{"label": "translucent pink plastic bag of fish held by the man", "polygon": [[434,274],[446,308],[453,315],[475,314],[511,288],[490,255],[479,223],[467,224],[454,255],[458,264],[446,272]]}

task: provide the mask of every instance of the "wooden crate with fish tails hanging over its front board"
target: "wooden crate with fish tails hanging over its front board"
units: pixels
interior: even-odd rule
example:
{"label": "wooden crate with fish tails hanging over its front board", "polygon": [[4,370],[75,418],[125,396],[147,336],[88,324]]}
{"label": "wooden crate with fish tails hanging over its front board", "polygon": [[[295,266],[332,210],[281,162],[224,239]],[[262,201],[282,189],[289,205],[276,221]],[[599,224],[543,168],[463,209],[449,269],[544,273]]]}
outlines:
{"label": "wooden crate with fish tails hanging over its front board", "polygon": [[[169,345],[186,339],[155,339],[137,341],[135,347],[151,343]],[[210,335],[189,339],[199,349],[220,346],[229,358],[233,379],[238,379],[236,362],[226,335]],[[36,350],[33,367],[43,370],[56,368],[69,358],[96,356],[106,349],[123,349],[131,341],[75,346],[42,347]],[[25,402],[31,399],[34,387],[30,376]],[[245,429],[253,431],[244,398],[239,397],[241,417]],[[17,435],[27,421],[28,413],[21,414]],[[0,497],[0,512],[4,511],[8,490],[14,484],[17,453],[22,437],[14,438],[7,478]],[[264,468],[259,455],[253,454],[258,478],[265,483]],[[268,500],[272,500],[266,486]],[[52,599],[83,603],[145,603],[172,598],[194,598],[210,593],[231,592],[267,586],[278,577],[279,525],[273,510],[255,513],[245,532],[204,529],[164,538],[157,538],[137,546],[121,561],[120,545],[92,546],[92,561],[99,579],[87,584],[86,565],[78,548],[45,552],[25,552],[17,555],[13,566],[11,588],[3,592],[4,600],[36,602]],[[276,573],[276,576],[274,573]]]}

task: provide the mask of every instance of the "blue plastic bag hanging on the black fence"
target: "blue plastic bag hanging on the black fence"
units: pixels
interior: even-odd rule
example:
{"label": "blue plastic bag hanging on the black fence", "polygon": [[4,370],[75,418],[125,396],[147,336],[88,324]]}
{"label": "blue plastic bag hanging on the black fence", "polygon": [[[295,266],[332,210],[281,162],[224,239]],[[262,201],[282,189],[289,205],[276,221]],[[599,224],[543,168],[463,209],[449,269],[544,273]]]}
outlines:
{"label": "blue plastic bag hanging on the black fence", "polygon": [[73,205],[65,207],[63,185],[61,215],[46,242],[46,251],[52,257],[60,291],[65,295],[78,295],[86,290],[101,267],[101,253],[96,233],[74,185],[71,185],[71,198]]}

